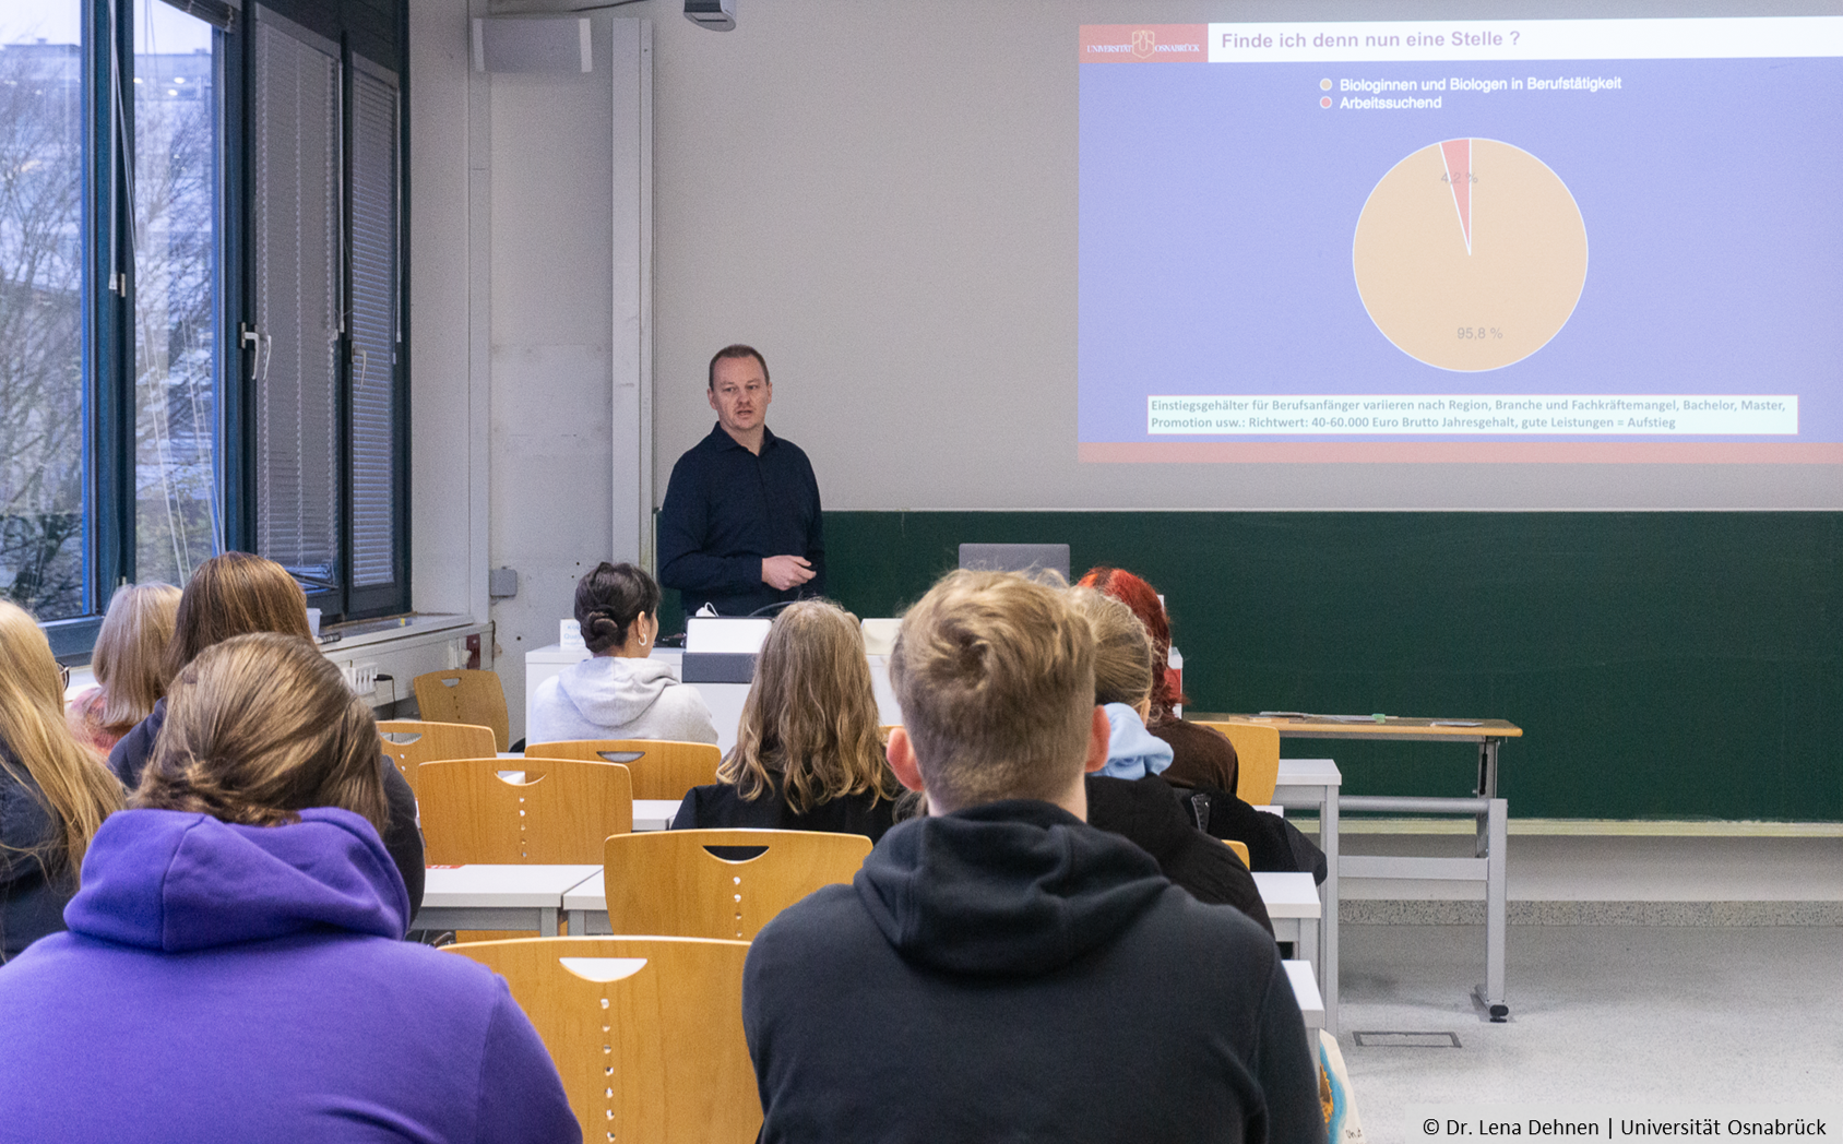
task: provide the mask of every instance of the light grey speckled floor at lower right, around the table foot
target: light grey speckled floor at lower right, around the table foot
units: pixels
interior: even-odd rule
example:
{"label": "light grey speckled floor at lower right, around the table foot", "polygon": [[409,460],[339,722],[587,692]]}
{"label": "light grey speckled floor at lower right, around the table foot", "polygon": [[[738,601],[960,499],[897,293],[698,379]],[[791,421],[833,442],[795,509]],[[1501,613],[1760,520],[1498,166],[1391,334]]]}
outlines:
{"label": "light grey speckled floor at lower right, around the table foot", "polygon": [[[1342,941],[1340,1046],[1373,1144],[1425,1138],[1408,1115],[1421,1103],[1786,1105],[1819,1092],[1836,1107],[1843,1094],[1837,927],[1517,927],[1508,1024],[1469,1000],[1484,976],[1476,927],[1345,925]],[[1358,1030],[1454,1032],[1460,1048],[1366,1048]]]}

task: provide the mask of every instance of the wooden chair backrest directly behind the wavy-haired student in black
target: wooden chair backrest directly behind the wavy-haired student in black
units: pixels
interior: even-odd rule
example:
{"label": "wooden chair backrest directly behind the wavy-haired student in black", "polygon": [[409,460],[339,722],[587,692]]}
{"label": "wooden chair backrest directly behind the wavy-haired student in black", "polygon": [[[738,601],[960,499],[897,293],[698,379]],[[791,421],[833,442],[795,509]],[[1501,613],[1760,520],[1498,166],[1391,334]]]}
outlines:
{"label": "wooden chair backrest directly behind the wavy-haired student in black", "polygon": [[[765,847],[726,860],[708,847]],[[870,853],[863,835],[816,831],[660,831],[603,847],[608,927],[752,941],[776,914],[820,886],[850,882]]]}

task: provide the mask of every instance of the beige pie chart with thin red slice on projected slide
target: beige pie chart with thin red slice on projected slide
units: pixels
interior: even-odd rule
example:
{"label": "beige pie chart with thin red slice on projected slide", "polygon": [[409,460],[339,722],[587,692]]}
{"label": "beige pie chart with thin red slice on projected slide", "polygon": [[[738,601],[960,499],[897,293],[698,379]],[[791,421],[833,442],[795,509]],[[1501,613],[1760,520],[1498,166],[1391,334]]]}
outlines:
{"label": "beige pie chart with thin red slice on projected slide", "polygon": [[1476,372],[1561,333],[1587,282],[1587,223],[1541,158],[1489,138],[1428,144],[1364,203],[1356,293],[1410,357]]}

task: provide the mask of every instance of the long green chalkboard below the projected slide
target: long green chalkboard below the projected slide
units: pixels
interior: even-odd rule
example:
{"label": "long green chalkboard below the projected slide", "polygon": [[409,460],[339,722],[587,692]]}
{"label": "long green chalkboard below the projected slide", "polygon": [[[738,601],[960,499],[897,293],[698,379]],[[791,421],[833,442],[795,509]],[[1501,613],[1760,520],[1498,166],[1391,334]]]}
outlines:
{"label": "long green chalkboard below the projected slide", "polygon": [[[962,542],[1146,577],[1192,709],[1508,718],[1519,818],[1843,822],[1843,514],[828,512],[831,595],[899,615]],[[1445,744],[1285,753],[1334,757],[1347,794],[1476,770]]]}

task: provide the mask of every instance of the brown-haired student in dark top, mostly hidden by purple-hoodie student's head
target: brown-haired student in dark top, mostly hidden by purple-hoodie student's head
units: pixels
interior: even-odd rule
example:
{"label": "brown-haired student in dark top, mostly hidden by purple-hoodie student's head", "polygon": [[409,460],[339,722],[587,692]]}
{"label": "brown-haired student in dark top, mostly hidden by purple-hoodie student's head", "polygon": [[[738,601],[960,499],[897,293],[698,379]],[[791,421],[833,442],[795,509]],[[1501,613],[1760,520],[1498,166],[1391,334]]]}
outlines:
{"label": "brown-haired student in dark top, mostly hidden by purple-hoodie student's head", "polygon": [[[171,685],[179,672],[192,663],[199,652],[252,632],[275,632],[278,636],[299,636],[311,641],[308,628],[308,597],[288,569],[275,560],[251,556],[249,553],[225,553],[212,556],[192,573],[186,590],[179,597],[179,612],[173,615],[173,637],[166,645],[162,663],[164,685]],[[140,772],[153,755],[153,744],[160,737],[166,722],[166,700],[162,698],[147,713],[147,718],[135,724],[114,750],[109,752],[109,768],[116,772],[122,785],[133,790],[140,785]],[[383,833],[383,846],[396,860],[404,886],[409,888],[409,916],[422,908],[422,827],[417,823],[417,796],[409,790],[409,781],[378,750],[378,770],[383,774],[383,794],[391,800],[391,825]]]}

